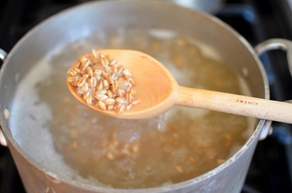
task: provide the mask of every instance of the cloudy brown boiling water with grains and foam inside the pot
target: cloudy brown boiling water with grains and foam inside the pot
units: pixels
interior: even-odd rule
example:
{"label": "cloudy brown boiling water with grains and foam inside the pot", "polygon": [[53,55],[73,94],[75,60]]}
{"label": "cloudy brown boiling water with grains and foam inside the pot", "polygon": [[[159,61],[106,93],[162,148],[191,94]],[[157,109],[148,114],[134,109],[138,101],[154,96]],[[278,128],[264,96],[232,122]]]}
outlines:
{"label": "cloudy brown boiling water with grains and foam inside the pot", "polygon": [[98,186],[157,187],[215,168],[247,141],[256,119],[175,106],[156,118],[121,120],[82,106],[66,84],[79,55],[117,48],[153,56],[179,85],[250,95],[243,78],[194,42],[170,31],[125,29],[56,49],[18,86],[9,122],[13,137],[49,169]]}

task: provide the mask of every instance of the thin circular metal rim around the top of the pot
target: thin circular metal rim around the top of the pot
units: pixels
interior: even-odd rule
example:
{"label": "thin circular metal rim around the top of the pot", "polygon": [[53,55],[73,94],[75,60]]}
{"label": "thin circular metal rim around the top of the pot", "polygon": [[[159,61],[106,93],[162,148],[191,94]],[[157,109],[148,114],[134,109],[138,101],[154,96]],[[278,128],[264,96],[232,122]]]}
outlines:
{"label": "thin circular metal rim around the top of the pot", "polygon": [[[185,8],[185,7],[181,7],[178,5],[174,5],[172,3],[167,3],[167,2],[161,2],[161,1],[144,1],[144,0],[108,0],[108,1],[94,1],[94,2],[86,2],[86,3],[82,3],[79,4],[77,6],[73,6],[71,8],[67,8],[49,18],[47,18],[46,20],[40,22],[39,24],[37,24],[35,27],[33,27],[31,30],[29,30],[11,49],[11,51],[8,53],[2,68],[0,70],[0,87],[2,86],[2,78],[3,78],[3,74],[5,73],[5,69],[7,67],[8,61],[10,60],[11,56],[13,55],[13,52],[15,52],[15,50],[18,49],[18,47],[25,42],[25,40],[29,37],[32,36],[34,34],[35,31],[39,30],[41,27],[43,27],[44,25],[50,23],[51,21],[58,19],[59,17],[63,17],[65,16],[67,13],[71,13],[73,11],[79,10],[79,9],[86,9],[91,7],[93,4],[98,4],[101,5],[102,3],[139,3],[139,4],[147,4],[147,5],[155,5],[155,6],[173,6],[175,8],[180,8],[180,9],[184,9],[186,12],[191,12],[191,13],[196,13],[196,14],[200,14],[203,17],[205,17],[206,19],[208,19],[210,22],[215,22],[218,25],[220,25],[221,27],[224,27],[228,32],[230,32],[232,35],[234,35],[235,37],[237,37],[239,39],[239,41],[245,45],[245,47],[248,49],[248,51],[250,52],[250,54],[254,57],[254,59],[256,60],[256,63],[258,65],[258,68],[260,70],[260,73],[262,75],[263,78],[263,83],[264,83],[264,89],[265,89],[265,99],[270,99],[270,90],[269,90],[269,83],[268,83],[268,79],[267,79],[267,74],[265,72],[264,66],[262,64],[262,62],[260,61],[256,51],[253,49],[253,47],[248,43],[248,41],[241,36],[237,31],[235,31],[232,27],[230,27],[228,24],[226,24],[225,22],[223,22],[222,20],[220,20],[219,18],[208,14],[208,13],[203,13],[201,11],[198,10],[192,10],[189,8]],[[192,185],[194,183],[197,183],[199,181],[202,181],[208,177],[211,177],[213,175],[215,175],[216,173],[218,173],[220,170],[224,169],[225,167],[227,167],[228,165],[230,165],[232,162],[234,162],[235,160],[237,160],[247,149],[248,147],[258,139],[258,136],[260,134],[261,129],[263,128],[263,124],[265,122],[264,119],[261,119],[258,122],[258,125],[256,126],[256,129],[254,130],[253,134],[251,135],[251,137],[248,139],[248,141],[240,148],[240,150],[238,150],[232,157],[230,157],[226,162],[224,162],[223,164],[217,166],[216,168],[200,175],[197,176],[195,178],[192,178],[190,180],[186,180],[180,183],[175,183],[175,184],[171,184],[171,185],[167,185],[167,186],[163,186],[163,187],[154,187],[154,188],[145,188],[145,189],[133,189],[133,190],[128,190],[128,189],[116,189],[116,188],[108,188],[108,187],[98,187],[98,186],[94,186],[94,185],[89,185],[89,184],[85,184],[85,183],[81,183],[75,180],[72,180],[70,178],[67,178],[65,176],[62,176],[60,174],[56,174],[54,171],[52,171],[51,169],[48,169],[46,166],[42,165],[41,163],[39,163],[37,160],[35,160],[34,158],[32,158],[30,155],[27,154],[27,152],[25,152],[25,150],[23,150],[20,145],[15,141],[15,139],[13,138],[13,136],[11,135],[9,129],[6,127],[6,124],[4,122],[4,117],[3,117],[3,113],[0,113],[0,124],[1,124],[1,128],[2,131],[5,134],[5,138],[6,140],[8,140],[10,142],[11,145],[13,145],[13,147],[18,150],[18,152],[20,153],[20,155],[22,157],[24,157],[30,164],[34,165],[37,169],[43,171],[45,174],[52,176],[53,178],[56,178],[58,180],[60,180],[61,182],[67,183],[69,185],[72,186],[76,186],[76,187],[81,187],[85,190],[89,190],[89,191],[101,191],[101,192],[164,192],[164,191],[168,191],[168,190],[176,190],[182,187],[187,187],[189,185]],[[9,146],[8,146],[9,147]]]}

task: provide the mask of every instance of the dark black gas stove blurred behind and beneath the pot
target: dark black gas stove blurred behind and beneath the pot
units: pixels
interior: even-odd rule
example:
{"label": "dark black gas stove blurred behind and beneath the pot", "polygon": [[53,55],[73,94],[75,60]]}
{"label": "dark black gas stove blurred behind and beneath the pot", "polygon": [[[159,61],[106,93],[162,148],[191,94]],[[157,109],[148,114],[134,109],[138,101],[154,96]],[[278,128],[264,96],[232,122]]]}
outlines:
{"label": "dark black gas stove blurred behind and beneath the pot", "polygon": [[[82,2],[83,0],[2,0],[0,48],[9,52],[36,24]],[[231,25],[251,45],[255,46],[269,38],[292,40],[292,0],[216,2],[220,4],[210,6],[212,11],[211,9],[208,11]],[[190,3],[185,6],[190,6]],[[207,4],[200,8],[204,10],[206,7]],[[270,82],[271,99],[277,101],[292,99],[292,78],[288,70],[286,53],[276,50],[263,54],[261,59]],[[272,134],[258,142],[243,193],[292,192],[292,125],[273,122],[272,127]],[[11,154],[8,148],[2,146],[0,146],[0,192],[25,192]]]}

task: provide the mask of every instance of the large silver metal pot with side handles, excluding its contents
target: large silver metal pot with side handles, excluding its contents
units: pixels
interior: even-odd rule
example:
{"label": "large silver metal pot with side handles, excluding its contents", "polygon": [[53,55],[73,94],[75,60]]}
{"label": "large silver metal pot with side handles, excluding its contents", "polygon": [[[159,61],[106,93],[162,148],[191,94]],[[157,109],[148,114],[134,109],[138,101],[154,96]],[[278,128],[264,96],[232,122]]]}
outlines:
{"label": "large silver metal pot with side handles, excluding its contents", "polygon": [[[99,1],[65,10],[34,27],[5,57],[0,72],[0,132],[2,145],[7,142],[27,192],[239,192],[243,186],[256,144],[269,133],[269,124],[258,120],[246,144],[225,163],[196,178],[165,187],[118,190],[95,187],[65,178],[50,171],[30,157],[10,133],[3,109],[11,108],[18,82],[50,50],[107,28],[127,26],[177,30],[216,50],[223,62],[243,74],[254,97],[269,99],[269,85],[257,52],[236,31],[214,16],[158,1]],[[266,41],[258,53],[283,48],[292,56],[292,42],[282,39]],[[248,73],[247,73],[248,72]],[[248,74],[248,75],[247,75]],[[267,122],[266,122],[267,123]],[[1,131],[1,130],[0,130]],[[5,141],[6,140],[6,141]]]}

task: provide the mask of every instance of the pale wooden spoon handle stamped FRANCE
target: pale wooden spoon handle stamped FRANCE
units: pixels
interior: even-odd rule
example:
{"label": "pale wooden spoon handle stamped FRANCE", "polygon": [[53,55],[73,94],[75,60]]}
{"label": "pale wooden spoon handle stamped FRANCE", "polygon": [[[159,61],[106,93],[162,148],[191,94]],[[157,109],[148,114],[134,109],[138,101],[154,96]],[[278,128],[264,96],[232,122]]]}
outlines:
{"label": "pale wooden spoon handle stamped FRANCE", "polygon": [[179,86],[176,104],[292,123],[292,104],[279,101]]}

